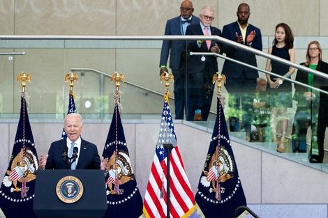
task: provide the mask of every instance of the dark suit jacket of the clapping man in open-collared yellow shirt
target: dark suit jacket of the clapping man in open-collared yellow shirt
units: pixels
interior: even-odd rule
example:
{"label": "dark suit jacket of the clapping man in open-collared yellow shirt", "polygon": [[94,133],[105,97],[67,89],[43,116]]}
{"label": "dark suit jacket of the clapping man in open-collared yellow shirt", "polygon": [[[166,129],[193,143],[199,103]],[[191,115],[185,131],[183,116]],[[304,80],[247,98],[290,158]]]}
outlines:
{"label": "dark suit jacket of the clapping man in open-collared yellow shirt", "polygon": [[[252,42],[251,47],[254,49],[258,49],[262,51],[262,35],[260,29],[257,27],[248,24],[247,30],[246,30],[246,37],[248,36],[251,31],[255,30],[255,38]],[[227,38],[232,41],[236,41],[236,32],[238,33],[238,36],[241,36],[241,31],[239,29],[238,22],[233,22],[231,24],[223,26],[222,30],[222,36],[223,38]],[[245,39],[246,43],[246,39]],[[241,61],[243,63],[248,63],[253,66],[258,66],[255,58],[255,54],[251,52],[246,52],[242,49],[237,49],[235,47],[232,47],[230,45],[222,45],[223,52],[231,59]],[[255,79],[258,78],[258,70],[253,70],[251,68],[244,67],[243,65],[239,65],[237,63],[234,63],[232,61],[225,60],[225,63],[223,64],[222,73],[225,75],[225,77],[231,77],[231,78],[239,78],[241,76],[241,72],[245,70],[246,77],[248,79]]]}

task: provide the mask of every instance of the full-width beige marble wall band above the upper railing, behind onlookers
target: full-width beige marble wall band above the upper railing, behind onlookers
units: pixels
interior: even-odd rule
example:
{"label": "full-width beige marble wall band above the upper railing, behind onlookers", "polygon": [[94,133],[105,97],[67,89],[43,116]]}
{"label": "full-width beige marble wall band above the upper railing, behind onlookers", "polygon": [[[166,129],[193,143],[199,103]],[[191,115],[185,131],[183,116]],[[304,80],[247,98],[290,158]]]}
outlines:
{"label": "full-width beige marble wall band above the upper railing, behind onlookers", "polygon": [[[193,1],[194,15],[204,5],[216,8],[213,26],[222,29],[237,20],[243,1]],[[279,22],[288,23],[296,36],[327,36],[325,1],[245,1],[250,22],[263,36],[271,36]],[[165,23],[179,15],[181,1],[1,1],[1,34],[17,35],[162,35]],[[311,24],[306,25],[304,24]],[[14,27],[15,26],[15,27]],[[144,28],[147,26],[147,28]],[[327,25],[326,25],[327,26]],[[15,29],[14,29],[15,28]]]}

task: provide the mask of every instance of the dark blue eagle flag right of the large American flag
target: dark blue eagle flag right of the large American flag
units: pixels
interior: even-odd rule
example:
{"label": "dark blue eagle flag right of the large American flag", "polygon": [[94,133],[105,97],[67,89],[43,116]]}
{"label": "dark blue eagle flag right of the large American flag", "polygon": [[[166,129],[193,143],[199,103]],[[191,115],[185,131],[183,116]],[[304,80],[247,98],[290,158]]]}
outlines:
{"label": "dark blue eagle flag right of the large American flag", "polygon": [[[238,175],[227,123],[219,98],[217,111],[218,115],[195,201],[202,210],[204,217],[230,218],[233,217],[237,207],[246,206],[246,198]],[[243,210],[239,210],[238,216],[243,212]]]}

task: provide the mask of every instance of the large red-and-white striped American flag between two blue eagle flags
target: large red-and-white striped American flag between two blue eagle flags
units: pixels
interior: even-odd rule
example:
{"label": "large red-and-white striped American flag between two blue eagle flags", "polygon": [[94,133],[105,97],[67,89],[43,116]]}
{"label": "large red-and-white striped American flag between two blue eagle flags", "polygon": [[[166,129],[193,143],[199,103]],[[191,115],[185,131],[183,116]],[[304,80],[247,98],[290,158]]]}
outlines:
{"label": "large red-and-white striped American flag between two blue eagle flags", "polygon": [[149,182],[144,197],[145,217],[167,216],[167,149],[163,143],[171,143],[170,152],[170,217],[187,217],[195,211],[195,200],[191,185],[184,170],[172,115],[167,100],[164,102],[161,127],[156,153],[151,165]]}

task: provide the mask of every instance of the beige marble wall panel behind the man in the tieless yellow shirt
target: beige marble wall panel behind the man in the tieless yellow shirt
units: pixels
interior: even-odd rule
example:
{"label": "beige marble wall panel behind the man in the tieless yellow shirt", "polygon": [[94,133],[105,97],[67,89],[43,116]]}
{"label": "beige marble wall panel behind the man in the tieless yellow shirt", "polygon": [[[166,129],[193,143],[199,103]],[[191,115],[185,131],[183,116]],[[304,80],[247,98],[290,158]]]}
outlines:
{"label": "beige marble wall panel behind the man in the tieless yellow shirt", "polygon": [[[218,20],[220,26],[237,20],[237,8],[246,2],[251,8],[249,22],[261,29],[263,36],[274,35],[276,24],[287,23],[295,36],[320,35],[321,16],[319,15],[320,0],[292,0],[292,1],[222,1],[218,0]],[[221,28],[222,28],[221,27]]]}

